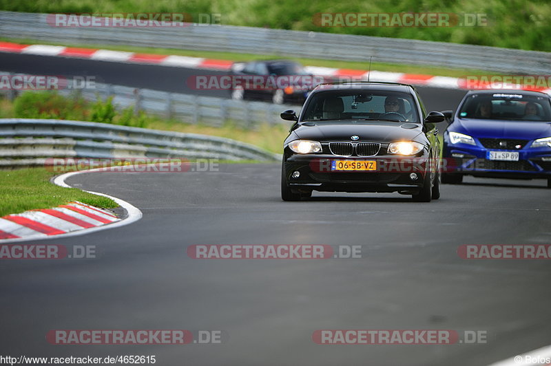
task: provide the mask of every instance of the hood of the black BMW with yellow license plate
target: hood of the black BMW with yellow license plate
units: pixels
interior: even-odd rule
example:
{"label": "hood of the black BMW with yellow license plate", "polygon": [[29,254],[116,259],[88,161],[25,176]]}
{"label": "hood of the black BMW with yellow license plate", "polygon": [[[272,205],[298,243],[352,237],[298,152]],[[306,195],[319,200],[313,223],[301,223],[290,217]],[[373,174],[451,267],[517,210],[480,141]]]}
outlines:
{"label": "hood of the black BMW with yellow license plate", "polygon": [[[304,122],[294,130],[302,140],[320,142],[393,142],[414,140],[422,133],[422,125],[410,122],[338,121]],[[351,137],[357,136],[357,140]]]}

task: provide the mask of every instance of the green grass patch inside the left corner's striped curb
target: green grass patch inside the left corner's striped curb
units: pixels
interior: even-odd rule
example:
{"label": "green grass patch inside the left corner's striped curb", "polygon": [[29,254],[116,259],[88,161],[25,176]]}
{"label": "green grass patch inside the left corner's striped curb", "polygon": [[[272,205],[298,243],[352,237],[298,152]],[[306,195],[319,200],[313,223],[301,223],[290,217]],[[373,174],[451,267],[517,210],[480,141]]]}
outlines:
{"label": "green grass patch inside the left corner's striped curb", "polygon": [[63,188],[50,182],[56,173],[45,168],[0,171],[0,216],[51,208],[72,201],[101,208],[117,207],[107,197],[92,195],[76,188]]}

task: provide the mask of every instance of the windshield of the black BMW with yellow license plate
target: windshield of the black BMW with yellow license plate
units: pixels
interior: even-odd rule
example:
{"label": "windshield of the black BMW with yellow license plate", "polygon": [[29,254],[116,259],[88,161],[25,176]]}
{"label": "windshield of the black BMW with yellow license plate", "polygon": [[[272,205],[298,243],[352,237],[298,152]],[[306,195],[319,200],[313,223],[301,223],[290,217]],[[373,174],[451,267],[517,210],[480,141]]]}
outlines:
{"label": "windshield of the black BMW with yellow license plate", "polygon": [[309,100],[302,120],[419,122],[413,96],[388,90],[329,90]]}

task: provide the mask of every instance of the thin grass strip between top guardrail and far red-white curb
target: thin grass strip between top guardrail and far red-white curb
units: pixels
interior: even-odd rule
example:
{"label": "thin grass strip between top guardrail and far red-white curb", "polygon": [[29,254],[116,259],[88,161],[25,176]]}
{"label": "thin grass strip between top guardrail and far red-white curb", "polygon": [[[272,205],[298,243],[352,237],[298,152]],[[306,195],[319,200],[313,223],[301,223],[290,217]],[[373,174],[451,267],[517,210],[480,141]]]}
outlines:
{"label": "thin grass strip between top guardrail and far red-white curb", "polygon": [[[152,47],[134,47],[126,45],[92,45],[92,44],[65,44],[55,42],[37,41],[34,39],[9,39],[0,37],[0,41],[22,43],[25,45],[44,44],[48,45],[63,45],[67,47],[84,47],[84,48],[99,48],[102,50],[113,51],[125,51],[136,52],[145,54],[166,54],[177,56],[191,56],[191,57],[204,57],[204,58],[216,58],[219,60],[229,60],[235,62],[253,61],[253,60],[267,60],[267,59],[280,59],[298,61],[302,65],[307,66],[320,66],[320,67],[336,67],[339,69],[359,69],[368,70],[369,60],[365,62],[352,62],[352,61],[338,61],[338,60],[320,60],[318,58],[299,58],[299,57],[282,57],[275,55],[259,55],[259,54],[245,54],[245,53],[232,53],[232,52],[215,52],[215,51],[200,51],[200,50],[178,50],[174,48],[152,48]],[[371,64],[371,69],[382,72],[405,72],[407,74],[426,74],[435,76],[450,76],[459,78],[466,75],[493,75],[496,72],[488,72],[483,70],[474,69],[450,69],[445,67],[433,67],[422,65],[402,65],[395,63],[377,63]]]}

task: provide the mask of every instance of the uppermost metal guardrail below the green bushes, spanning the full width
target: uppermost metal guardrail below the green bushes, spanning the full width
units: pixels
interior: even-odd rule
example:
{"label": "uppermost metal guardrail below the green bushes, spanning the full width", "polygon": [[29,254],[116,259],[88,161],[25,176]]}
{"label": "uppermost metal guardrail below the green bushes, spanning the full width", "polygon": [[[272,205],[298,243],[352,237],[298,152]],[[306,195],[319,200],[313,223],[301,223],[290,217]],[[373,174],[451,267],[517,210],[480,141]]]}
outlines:
{"label": "uppermost metal guardrail below the green bushes, spanning the full width", "polygon": [[46,16],[0,12],[0,34],[3,37],[61,43],[136,45],[347,61],[366,61],[373,56],[378,62],[486,69],[514,74],[548,74],[551,67],[551,54],[548,52],[231,25],[56,28],[46,23]]}

